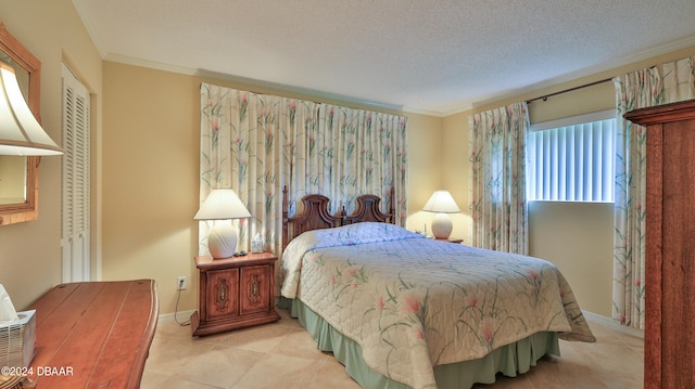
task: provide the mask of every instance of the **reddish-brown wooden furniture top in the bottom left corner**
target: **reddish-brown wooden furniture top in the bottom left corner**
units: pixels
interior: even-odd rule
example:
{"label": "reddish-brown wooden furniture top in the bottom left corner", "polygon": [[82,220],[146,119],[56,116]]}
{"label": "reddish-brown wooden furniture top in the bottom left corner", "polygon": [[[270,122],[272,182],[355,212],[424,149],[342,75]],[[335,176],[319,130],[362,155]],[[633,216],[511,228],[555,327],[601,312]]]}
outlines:
{"label": "reddish-brown wooden furniture top in the bottom left corner", "polygon": [[153,280],[62,284],[28,309],[36,346],[27,384],[140,387],[159,313]]}

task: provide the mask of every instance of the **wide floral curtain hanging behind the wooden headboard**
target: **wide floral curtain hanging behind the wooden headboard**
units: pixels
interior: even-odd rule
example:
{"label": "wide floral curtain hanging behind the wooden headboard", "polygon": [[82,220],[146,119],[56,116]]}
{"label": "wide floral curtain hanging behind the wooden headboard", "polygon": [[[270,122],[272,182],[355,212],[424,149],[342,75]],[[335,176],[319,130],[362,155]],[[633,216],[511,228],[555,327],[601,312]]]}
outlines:
{"label": "wide floral curtain hanging behind the wooden headboard", "polygon": [[[282,189],[289,216],[302,196],[331,198],[331,212],[355,208],[362,194],[382,198],[394,189],[395,217],[407,215],[407,119],[296,99],[201,86],[200,200],[213,189],[235,190],[253,216],[235,221],[239,249],[255,234],[279,254],[282,244]],[[388,211],[388,202],[381,204]],[[212,222],[201,222],[199,252],[207,254]]]}

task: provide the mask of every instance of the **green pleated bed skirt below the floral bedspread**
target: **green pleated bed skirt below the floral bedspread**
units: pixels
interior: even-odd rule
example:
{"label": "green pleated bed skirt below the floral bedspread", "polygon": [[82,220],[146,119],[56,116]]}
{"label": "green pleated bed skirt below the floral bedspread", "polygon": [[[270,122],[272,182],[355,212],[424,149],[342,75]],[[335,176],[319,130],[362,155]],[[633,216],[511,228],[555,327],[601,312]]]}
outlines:
{"label": "green pleated bed skirt below the floral bedspread", "polygon": [[[348,374],[366,389],[406,389],[409,386],[389,379],[372,371],[362,359],[362,348],[354,340],[343,336],[324,319],[308,309],[299,299],[280,298],[280,308],[296,317],[316,340],[321,351],[332,352],[345,366]],[[471,388],[473,384],[492,384],[495,375],[502,373],[516,377],[535,366],[545,354],[560,354],[557,333],[538,333],[516,343],[501,347],[484,358],[473,361],[434,366],[434,379],[440,389]]]}

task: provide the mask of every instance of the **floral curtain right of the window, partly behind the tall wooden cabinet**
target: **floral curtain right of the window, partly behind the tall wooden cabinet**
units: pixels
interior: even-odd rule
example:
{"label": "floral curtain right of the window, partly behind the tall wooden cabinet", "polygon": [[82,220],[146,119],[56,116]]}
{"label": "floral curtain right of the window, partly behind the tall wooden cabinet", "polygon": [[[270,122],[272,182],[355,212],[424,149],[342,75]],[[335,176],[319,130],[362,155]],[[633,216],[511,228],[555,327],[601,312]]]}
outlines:
{"label": "floral curtain right of the window, partly behind the tall wooden cabinet", "polygon": [[618,132],[614,233],[612,317],[644,328],[646,198],[645,128],[622,119],[636,108],[695,98],[695,56],[614,79]]}

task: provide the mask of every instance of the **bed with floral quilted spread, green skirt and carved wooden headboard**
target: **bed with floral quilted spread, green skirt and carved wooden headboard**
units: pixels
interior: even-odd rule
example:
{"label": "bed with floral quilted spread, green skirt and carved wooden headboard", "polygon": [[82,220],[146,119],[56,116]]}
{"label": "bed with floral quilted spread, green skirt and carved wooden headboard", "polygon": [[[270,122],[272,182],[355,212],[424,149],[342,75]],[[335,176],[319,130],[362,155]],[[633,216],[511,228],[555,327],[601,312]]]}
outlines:
{"label": "bed with floral quilted spread, green skirt and carved wooden headboard", "polygon": [[380,198],[346,215],[307,195],[287,217],[281,306],[364,388],[470,388],[526,373],[558,338],[595,341],[551,262],[438,242]]}

